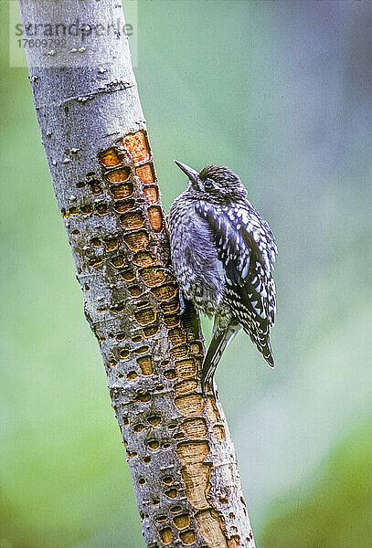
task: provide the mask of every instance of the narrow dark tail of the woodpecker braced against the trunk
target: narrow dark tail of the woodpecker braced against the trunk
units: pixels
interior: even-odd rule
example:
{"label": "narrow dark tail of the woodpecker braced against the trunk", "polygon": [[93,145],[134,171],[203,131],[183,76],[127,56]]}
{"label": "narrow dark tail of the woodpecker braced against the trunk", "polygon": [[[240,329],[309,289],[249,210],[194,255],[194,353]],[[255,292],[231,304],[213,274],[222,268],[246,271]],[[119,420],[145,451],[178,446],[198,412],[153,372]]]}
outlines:
{"label": "narrow dark tail of the woodpecker braced against the trunk", "polygon": [[207,348],[207,354],[204,358],[201,372],[201,387],[204,395],[206,395],[206,388],[212,388],[213,394],[215,394],[213,376],[222,354],[229,346],[229,343],[234,339],[237,332],[239,332],[239,329],[240,326],[238,325],[229,326],[222,330],[218,329],[218,320],[215,320],[213,338]]}

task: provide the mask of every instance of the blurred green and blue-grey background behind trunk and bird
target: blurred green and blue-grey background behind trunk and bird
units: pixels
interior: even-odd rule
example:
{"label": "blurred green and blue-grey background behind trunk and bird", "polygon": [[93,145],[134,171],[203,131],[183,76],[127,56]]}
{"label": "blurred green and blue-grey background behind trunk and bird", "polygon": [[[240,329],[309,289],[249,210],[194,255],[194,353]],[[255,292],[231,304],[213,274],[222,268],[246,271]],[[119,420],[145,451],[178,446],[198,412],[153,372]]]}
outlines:
{"label": "blurred green and blue-grey background behind trunk and bird", "polygon": [[[186,184],[173,158],[228,164],[277,237],[276,368],[240,334],[217,374],[257,545],[367,548],[372,4],[130,9],[166,209]],[[6,2],[0,10],[0,548],[140,548],[27,70],[8,67]]]}

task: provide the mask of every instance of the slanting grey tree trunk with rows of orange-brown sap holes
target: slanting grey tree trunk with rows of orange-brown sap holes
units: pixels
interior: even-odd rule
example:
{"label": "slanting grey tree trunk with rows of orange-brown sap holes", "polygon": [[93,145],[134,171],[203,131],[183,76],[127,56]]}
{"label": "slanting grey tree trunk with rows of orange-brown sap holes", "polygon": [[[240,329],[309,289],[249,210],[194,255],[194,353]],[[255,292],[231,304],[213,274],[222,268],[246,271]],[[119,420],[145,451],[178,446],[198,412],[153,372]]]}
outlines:
{"label": "slanting grey tree trunk with rows of orange-brown sap holes", "polygon": [[26,48],[29,78],[145,543],[252,548],[228,425],[219,402],[201,395],[197,315],[188,310],[180,317],[178,289],[164,269],[165,213],[122,5],[20,0],[20,6],[28,33],[41,23],[56,35],[59,25],[59,43]]}

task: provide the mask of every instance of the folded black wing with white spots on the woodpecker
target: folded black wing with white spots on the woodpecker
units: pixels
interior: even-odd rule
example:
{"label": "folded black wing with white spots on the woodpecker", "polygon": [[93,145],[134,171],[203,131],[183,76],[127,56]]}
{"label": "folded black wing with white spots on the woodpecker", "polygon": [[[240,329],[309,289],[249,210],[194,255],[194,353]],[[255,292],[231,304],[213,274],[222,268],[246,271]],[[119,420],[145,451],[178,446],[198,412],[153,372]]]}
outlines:
{"label": "folded black wing with white spots on the woodpecker", "polygon": [[271,276],[276,245],[269,225],[248,201],[238,205],[196,205],[218,248],[229,306],[244,331],[273,364],[269,330],[275,315]]}

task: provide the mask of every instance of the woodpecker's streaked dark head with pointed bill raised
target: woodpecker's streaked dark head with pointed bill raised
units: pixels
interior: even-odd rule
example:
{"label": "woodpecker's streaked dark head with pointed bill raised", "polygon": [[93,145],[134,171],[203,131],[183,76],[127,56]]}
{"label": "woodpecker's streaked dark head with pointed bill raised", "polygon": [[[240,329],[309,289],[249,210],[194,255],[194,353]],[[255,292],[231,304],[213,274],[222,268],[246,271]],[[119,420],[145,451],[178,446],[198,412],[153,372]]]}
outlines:
{"label": "woodpecker's streaked dark head with pointed bill raised", "polygon": [[176,165],[189,179],[187,192],[196,199],[219,204],[229,204],[244,199],[247,191],[239,176],[223,165],[207,165],[198,173],[185,163],[175,160]]}

